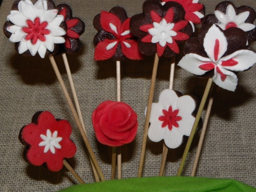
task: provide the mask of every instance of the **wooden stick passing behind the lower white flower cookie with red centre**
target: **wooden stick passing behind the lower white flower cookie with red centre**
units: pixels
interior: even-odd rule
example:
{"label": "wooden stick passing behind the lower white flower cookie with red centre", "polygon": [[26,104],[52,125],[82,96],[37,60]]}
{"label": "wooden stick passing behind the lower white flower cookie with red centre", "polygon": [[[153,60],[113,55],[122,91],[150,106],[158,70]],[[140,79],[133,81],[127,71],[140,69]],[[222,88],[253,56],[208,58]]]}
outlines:
{"label": "wooden stick passing behind the lower white flower cookie with red centre", "polygon": [[[171,70],[170,70],[169,89],[173,89],[174,70],[175,70],[175,57],[172,57],[172,60],[171,60]],[[163,143],[163,156],[162,156],[162,162],[161,162],[161,165],[160,165],[159,176],[163,176],[164,175],[167,154],[168,154],[168,147],[166,146],[165,143]]]}

